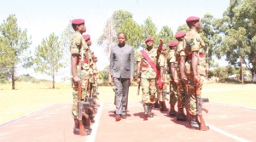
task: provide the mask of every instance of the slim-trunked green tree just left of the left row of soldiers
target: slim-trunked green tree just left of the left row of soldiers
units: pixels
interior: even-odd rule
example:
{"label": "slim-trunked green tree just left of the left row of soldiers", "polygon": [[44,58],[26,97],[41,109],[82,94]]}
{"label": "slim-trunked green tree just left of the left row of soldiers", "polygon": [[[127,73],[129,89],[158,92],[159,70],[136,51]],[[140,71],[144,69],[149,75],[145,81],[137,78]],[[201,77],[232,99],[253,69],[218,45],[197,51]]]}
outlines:
{"label": "slim-trunked green tree just left of the left row of soldiers", "polygon": [[52,77],[52,88],[55,88],[55,75],[63,67],[62,62],[64,48],[61,46],[59,37],[54,33],[49,38],[43,39],[41,45],[36,48],[35,58],[33,59],[34,70]]}

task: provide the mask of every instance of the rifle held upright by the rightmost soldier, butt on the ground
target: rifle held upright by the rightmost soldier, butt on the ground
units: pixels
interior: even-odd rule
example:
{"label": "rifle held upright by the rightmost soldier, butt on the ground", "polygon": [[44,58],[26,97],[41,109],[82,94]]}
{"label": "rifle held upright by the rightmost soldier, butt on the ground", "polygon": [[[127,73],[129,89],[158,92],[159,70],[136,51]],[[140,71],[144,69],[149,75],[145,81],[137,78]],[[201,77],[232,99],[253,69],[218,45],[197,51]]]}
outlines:
{"label": "rifle held upright by the rightmost soldier, butt on the ground", "polygon": [[[202,83],[201,82],[199,82],[199,83],[200,84],[196,85],[196,87],[195,87],[196,108],[197,108],[198,117],[199,117],[199,120],[200,120],[200,130],[201,131],[207,131],[209,129],[209,127],[207,127],[206,122],[205,122],[205,120],[204,120],[204,118],[202,116],[201,111],[208,112],[208,110],[202,107],[203,101],[201,99],[201,94],[199,93],[199,92],[201,92],[200,87],[201,87]],[[209,99],[204,99],[204,100],[209,100]]]}

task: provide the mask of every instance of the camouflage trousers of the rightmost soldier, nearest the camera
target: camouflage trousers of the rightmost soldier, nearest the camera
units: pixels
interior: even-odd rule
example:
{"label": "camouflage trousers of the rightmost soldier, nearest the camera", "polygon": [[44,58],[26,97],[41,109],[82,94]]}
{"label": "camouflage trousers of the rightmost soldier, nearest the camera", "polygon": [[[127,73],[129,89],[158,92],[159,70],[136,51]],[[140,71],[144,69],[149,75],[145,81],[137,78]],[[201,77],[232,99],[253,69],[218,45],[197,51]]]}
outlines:
{"label": "camouflage trousers of the rightmost soldier, nearest the camera", "polygon": [[[192,116],[198,115],[197,107],[196,107],[196,99],[198,95],[201,95],[201,89],[203,85],[203,77],[201,77],[200,86],[196,87],[194,82],[194,77],[188,77],[189,85],[188,85],[188,96],[189,96],[189,114]],[[198,89],[196,89],[198,88]]]}

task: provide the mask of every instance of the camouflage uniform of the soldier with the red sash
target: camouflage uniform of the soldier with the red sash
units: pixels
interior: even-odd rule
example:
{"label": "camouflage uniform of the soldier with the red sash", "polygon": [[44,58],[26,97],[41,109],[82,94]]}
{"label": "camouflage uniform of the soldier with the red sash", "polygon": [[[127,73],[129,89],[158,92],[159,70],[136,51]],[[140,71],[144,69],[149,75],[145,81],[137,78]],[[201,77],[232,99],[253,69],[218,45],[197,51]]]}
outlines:
{"label": "camouflage uniform of the soldier with the red sash", "polygon": [[[152,48],[150,51],[145,49],[145,52],[148,54],[148,57],[155,63],[156,57],[157,57],[157,49]],[[151,67],[151,65],[148,64],[148,61],[143,58],[143,54],[140,54],[137,61],[138,65],[139,62],[143,59],[143,68],[142,68],[142,74],[141,74],[141,85],[143,90],[143,98],[142,102],[143,105],[145,104],[154,104],[154,97],[156,93],[156,72]]]}

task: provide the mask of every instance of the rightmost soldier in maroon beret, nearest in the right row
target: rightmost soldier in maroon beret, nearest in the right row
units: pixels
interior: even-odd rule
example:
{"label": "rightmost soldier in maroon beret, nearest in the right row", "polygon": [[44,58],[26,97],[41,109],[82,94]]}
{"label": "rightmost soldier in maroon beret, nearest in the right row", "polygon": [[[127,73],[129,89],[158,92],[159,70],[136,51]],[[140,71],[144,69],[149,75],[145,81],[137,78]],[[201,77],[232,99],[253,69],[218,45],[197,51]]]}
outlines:
{"label": "rightmost soldier in maroon beret, nearest in the right row", "polygon": [[[191,116],[190,126],[192,128],[200,128],[202,131],[207,131],[209,128],[206,126],[202,117],[202,100],[201,88],[203,79],[200,77],[199,68],[199,51],[204,47],[204,43],[199,35],[201,29],[200,18],[191,16],[186,22],[190,31],[186,34],[186,50],[188,51],[188,61],[186,63],[186,74],[189,80],[188,94],[189,94],[189,114]],[[200,119],[200,122],[198,121]]]}

